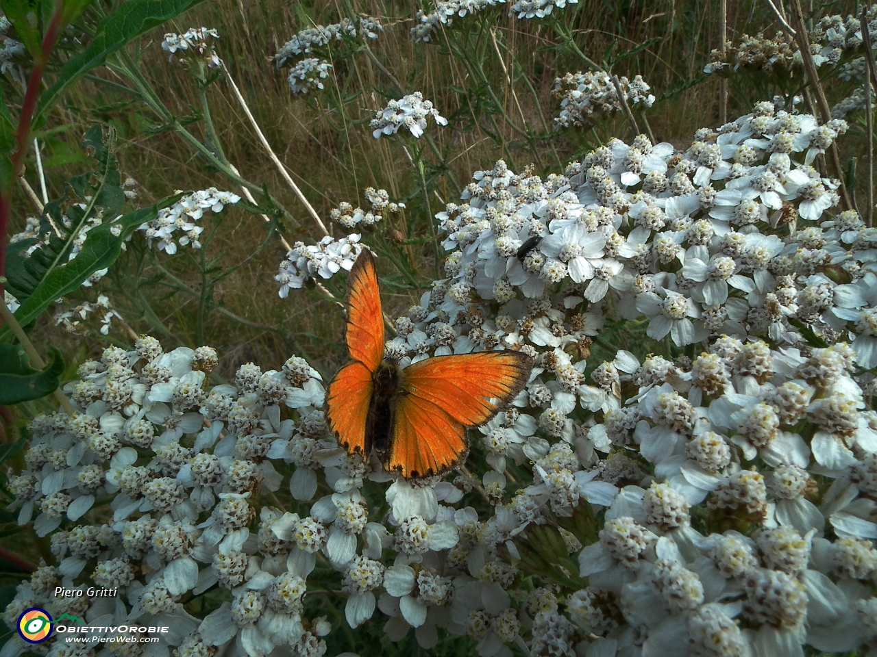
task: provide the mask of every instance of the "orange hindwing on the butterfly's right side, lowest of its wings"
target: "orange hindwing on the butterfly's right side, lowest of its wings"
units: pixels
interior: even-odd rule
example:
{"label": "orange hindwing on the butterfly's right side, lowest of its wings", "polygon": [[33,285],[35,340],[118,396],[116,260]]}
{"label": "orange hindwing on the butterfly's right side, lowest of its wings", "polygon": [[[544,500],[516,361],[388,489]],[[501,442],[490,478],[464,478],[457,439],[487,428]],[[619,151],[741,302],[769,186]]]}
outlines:
{"label": "orange hindwing on the butterfly's right side, lowest of its wings", "polygon": [[398,399],[387,470],[406,479],[429,477],[453,469],[466,456],[466,427],[416,395]]}

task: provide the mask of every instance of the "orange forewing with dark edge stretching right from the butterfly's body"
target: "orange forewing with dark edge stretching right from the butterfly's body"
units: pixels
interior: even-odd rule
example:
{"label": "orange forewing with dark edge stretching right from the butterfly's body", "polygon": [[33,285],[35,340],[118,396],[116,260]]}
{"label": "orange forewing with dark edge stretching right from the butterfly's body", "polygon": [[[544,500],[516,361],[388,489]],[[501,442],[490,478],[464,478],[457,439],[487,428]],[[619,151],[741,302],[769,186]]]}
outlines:
{"label": "orange forewing with dark edge stretching right from the butterfly's body", "polygon": [[404,370],[403,392],[431,402],[460,424],[474,427],[515,399],[531,369],[531,357],[517,351],[438,356]]}

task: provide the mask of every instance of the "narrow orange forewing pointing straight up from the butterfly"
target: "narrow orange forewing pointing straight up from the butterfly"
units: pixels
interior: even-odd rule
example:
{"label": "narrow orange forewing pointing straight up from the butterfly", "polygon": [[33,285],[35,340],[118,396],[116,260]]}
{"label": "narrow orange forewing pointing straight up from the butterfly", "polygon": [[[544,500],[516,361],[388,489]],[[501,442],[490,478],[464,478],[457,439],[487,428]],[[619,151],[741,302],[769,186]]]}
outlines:
{"label": "narrow orange forewing pointing straight up from the butterfly", "polygon": [[381,290],[371,251],[363,249],[347,279],[347,349],[350,357],[377,370],[384,351]]}

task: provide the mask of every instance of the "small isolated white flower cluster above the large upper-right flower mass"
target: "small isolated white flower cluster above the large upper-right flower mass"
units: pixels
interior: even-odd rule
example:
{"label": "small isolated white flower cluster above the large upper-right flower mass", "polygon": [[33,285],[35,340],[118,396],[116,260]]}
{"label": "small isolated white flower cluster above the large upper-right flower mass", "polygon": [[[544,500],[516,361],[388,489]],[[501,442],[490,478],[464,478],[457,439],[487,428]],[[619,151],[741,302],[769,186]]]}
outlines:
{"label": "small isolated white flower cluster above the large upper-right flower mass", "polygon": [[[654,95],[649,93],[651,87],[645,83],[642,75],[637,75],[633,80],[618,78],[618,86],[631,109],[649,109],[655,102]],[[610,75],[602,71],[567,73],[562,78],[556,78],[552,94],[560,98],[560,116],[554,118],[558,128],[590,126],[595,123],[595,116],[622,109]]]}

